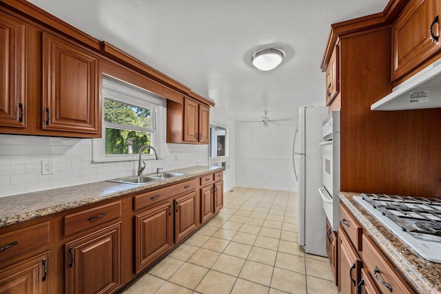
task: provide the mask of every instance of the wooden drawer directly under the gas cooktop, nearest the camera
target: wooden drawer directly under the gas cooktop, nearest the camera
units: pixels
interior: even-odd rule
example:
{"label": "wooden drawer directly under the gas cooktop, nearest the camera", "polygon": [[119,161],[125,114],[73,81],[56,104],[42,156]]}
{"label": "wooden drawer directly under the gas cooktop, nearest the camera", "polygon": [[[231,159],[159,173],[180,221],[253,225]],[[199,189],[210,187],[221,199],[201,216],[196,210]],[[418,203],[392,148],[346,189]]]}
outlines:
{"label": "wooden drawer directly under the gas cooktop, nearest the camera", "polygon": [[362,242],[364,266],[382,293],[414,293],[407,282],[398,275],[398,269],[387,260],[376,244],[365,235]]}

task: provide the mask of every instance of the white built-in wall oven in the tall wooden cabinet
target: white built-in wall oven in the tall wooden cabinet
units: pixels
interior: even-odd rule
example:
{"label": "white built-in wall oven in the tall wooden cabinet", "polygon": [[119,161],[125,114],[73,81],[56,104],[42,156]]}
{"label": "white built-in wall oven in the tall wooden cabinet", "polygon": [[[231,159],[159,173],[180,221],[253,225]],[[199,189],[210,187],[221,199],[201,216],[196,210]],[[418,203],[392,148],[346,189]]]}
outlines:
{"label": "white built-in wall oven in the tall wooden cabinet", "polygon": [[323,187],[318,189],[323,209],[334,231],[338,228],[340,198],[340,111],[331,112],[323,122],[322,129],[322,174]]}

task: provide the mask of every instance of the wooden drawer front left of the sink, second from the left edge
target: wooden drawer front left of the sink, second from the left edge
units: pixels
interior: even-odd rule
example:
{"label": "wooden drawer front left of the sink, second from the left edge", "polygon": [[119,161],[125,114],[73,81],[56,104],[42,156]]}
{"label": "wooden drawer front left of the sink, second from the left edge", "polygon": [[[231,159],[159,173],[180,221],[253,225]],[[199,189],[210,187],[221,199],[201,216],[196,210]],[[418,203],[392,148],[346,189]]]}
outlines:
{"label": "wooden drawer front left of the sink, second from the left edge", "polygon": [[64,217],[64,235],[72,235],[121,217],[121,201],[101,205]]}

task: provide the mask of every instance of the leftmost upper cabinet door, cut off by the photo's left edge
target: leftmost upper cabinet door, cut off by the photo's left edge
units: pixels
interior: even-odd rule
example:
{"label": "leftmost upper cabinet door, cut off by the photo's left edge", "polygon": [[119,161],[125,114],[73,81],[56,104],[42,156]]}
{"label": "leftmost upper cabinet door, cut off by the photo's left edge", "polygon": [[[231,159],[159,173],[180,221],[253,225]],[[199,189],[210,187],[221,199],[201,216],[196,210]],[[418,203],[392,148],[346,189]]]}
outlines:
{"label": "leftmost upper cabinet door, cut off by the photo's left edge", "polygon": [[25,127],[25,30],[0,12],[0,126]]}

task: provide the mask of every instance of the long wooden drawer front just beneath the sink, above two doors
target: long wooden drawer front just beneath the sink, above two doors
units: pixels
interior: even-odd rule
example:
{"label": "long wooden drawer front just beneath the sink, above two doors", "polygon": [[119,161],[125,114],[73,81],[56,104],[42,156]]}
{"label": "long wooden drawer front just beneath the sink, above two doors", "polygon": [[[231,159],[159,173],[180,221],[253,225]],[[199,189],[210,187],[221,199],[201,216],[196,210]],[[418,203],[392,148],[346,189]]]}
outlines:
{"label": "long wooden drawer front just beneath the sink, above two doors", "polygon": [[170,187],[156,189],[138,196],[134,196],[133,209],[138,210],[144,207],[148,207],[151,204],[161,202],[172,196],[176,196],[187,191],[192,191],[196,189],[196,186],[196,179],[187,180],[187,182],[181,182],[180,184],[176,184]]}

